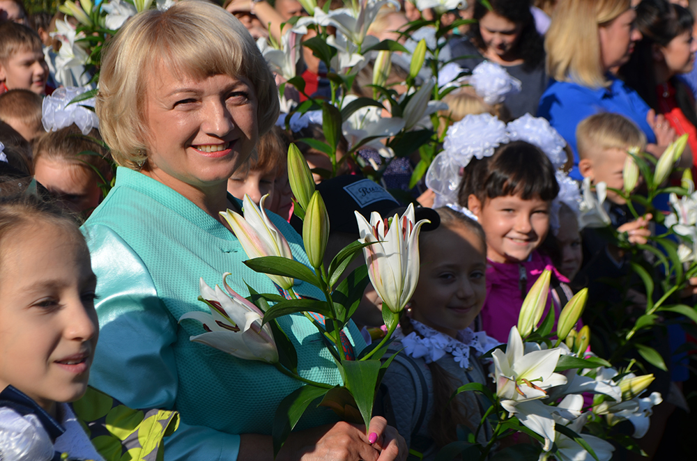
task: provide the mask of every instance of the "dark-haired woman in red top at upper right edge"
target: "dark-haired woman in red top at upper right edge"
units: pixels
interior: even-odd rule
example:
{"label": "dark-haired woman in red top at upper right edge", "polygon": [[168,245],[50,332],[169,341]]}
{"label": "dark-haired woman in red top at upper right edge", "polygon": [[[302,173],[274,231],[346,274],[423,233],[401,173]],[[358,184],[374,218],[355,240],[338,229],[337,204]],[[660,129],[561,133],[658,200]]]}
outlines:
{"label": "dark-haired woman in red top at upper right edge", "polygon": [[643,0],[636,7],[636,27],[643,38],[636,42],[629,63],[620,68],[620,77],[657,114],[665,116],[677,135],[687,133],[689,146],[696,153],[695,100],[688,86],[677,79],[694,67],[694,17],[686,8],[666,0]]}

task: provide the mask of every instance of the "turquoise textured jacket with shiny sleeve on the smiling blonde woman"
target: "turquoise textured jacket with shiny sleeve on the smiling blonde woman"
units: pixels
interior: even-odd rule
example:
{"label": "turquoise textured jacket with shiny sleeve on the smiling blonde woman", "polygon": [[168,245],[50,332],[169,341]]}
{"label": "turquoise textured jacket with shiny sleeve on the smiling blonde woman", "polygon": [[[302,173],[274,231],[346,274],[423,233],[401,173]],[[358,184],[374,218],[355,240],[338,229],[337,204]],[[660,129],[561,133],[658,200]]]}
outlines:
{"label": "turquoise textured jacket with shiny sleeve on the smiling blonde woman", "polygon": [[[300,236],[275,214],[270,219],[308,265]],[[277,292],[267,276],[243,265],[247,256],[233,233],[173,189],[123,167],[82,231],[98,277],[100,337],[90,384],[131,408],[180,412],[178,430],[165,439],[165,460],[236,460],[240,434],[270,434],[277,405],[300,383],[268,364],[192,343],[190,336],[204,333],[201,324],[177,322],[186,312],[208,311],[197,301],[199,277],[213,287],[231,272],[227,280],[243,296],[245,283]],[[320,296],[302,281],[295,290]],[[296,346],[303,377],[341,382],[309,320],[290,315],[279,324]],[[357,350],[365,347],[355,325],[347,334]],[[334,414],[321,407],[298,428],[331,421]]]}

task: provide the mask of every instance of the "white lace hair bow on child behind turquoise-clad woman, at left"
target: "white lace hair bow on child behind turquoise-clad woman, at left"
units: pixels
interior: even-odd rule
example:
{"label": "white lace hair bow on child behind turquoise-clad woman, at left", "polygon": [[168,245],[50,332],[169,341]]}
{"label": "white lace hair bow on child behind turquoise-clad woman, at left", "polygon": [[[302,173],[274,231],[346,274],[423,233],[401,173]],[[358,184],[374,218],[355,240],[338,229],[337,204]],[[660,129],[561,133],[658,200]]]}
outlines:
{"label": "white lace hair bow on child behind turquoise-clad woman, at left", "polygon": [[93,110],[84,106],[94,107],[94,98],[70,104],[78,95],[89,91],[89,88],[68,86],[58,88],[52,95],[46,96],[41,107],[41,122],[47,132],[58,131],[73,123],[79,127],[82,134],[87,135],[92,128],[99,128],[99,118]]}

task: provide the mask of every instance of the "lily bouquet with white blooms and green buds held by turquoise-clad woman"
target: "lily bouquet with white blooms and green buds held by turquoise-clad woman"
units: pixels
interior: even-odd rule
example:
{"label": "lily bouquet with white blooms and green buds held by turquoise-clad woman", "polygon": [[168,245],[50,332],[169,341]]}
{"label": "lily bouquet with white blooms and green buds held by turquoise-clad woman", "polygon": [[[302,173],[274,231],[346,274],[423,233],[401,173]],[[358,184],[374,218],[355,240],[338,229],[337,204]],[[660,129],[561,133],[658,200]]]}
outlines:
{"label": "lily bouquet with white blooms and green buds held by turquoise-clad woman", "polygon": [[[190,312],[180,319],[198,320],[206,332],[192,336],[197,341],[242,359],[259,360],[275,366],[281,373],[302,382],[280,403],[273,425],[274,452],[298,423],[305,409],[319,402],[335,410],[346,421],[369,427],[376,389],[390,364],[387,346],[406,302],[419,277],[418,235],[427,221],[415,222],[413,206],[388,221],[373,214],[370,222],[358,216],[360,240],[339,251],[331,263],[323,263],[329,236],[329,218],[307,162],[296,146],[288,153],[291,188],[303,210],[302,241],[310,266],[293,260],[288,242],[268,219],[261,199],[255,205],[249,196],[243,200],[244,216],[228,210],[221,213],[242,244],[249,260],[245,265],[267,274],[279,288],[277,293],[258,293],[248,287],[250,297],[234,292],[223,276],[224,290],[201,281],[201,297],[210,314]],[[363,253],[366,264],[346,274],[346,267]],[[312,284],[324,299],[301,298],[293,291],[293,279]],[[344,329],[358,307],[368,281],[383,299],[383,318],[388,334],[358,357]],[[332,386],[313,382],[298,374],[298,358],[291,341],[276,319],[300,313],[318,329],[332,354],[343,384]],[[381,361],[381,359],[383,359]]]}

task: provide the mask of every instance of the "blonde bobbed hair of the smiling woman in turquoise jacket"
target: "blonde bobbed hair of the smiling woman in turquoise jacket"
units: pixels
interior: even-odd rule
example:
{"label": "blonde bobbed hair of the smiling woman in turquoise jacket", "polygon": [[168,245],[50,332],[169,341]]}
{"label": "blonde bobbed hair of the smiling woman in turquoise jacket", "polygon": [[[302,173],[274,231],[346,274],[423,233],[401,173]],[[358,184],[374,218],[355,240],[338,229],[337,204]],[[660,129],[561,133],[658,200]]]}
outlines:
{"label": "blonde bobbed hair of the smiling woman in turquoise jacket", "polygon": [[184,0],[166,11],[130,19],[105,47],[95,110],[114,161],[140,169],[146,160],[144,128],[148,75],[158,65],[177,76],[245,77],[256,92],[259,135],[273,127],[278,91],[254,39],[233,15],[208,1]]}

